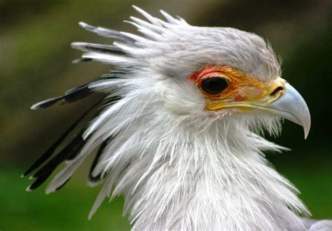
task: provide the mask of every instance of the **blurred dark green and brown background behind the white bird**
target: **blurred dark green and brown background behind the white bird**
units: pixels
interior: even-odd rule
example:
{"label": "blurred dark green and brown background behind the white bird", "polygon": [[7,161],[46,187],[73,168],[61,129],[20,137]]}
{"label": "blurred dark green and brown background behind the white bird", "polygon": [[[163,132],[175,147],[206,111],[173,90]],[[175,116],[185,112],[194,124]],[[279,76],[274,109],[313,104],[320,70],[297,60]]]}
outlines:
{"label": "blurred dark green and brown background behind the white bird", "polygon": [[[332,1],[13,1],[0,0],[0,230],[128,230],[123,199],[104,202],[88,221],[100,187],[85,186],[81,167],[59,192],[42,186],[25,192],[22,172],[84,111],[78,102],[30,111],[42,99],[62,94],[105,73],[111,66],[71,64],[81,52],[72,41],[111,43],[78,27],[85,21],[122,31],[139,16],[132,4],[160,16],[180,15],[191,25],[236,27],[267,38],[283,59],[283,77],[305,98],[312,115],[307,140],[285,121],[282,137],[268,137],[292,149],[269,160],[301,191],[314,218],[332,218],[331,73]],[[141,16],[139,16],[141,17]]]}

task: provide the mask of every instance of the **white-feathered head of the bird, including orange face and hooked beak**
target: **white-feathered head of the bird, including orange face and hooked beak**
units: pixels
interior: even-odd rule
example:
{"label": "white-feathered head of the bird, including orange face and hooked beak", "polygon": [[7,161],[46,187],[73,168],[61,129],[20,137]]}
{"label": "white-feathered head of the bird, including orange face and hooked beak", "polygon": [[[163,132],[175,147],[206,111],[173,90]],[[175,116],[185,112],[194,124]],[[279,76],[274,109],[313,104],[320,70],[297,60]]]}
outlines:
{"label": "white-feathered head of the bird, including orange face and hooked beak", "polygon": [[[275,52],[263,38],[233,28],[193,27],[161,10],[164,22],[136,10],[148,22],[131,17],[129,23],[143,36],[121,33],[123,42],[113,44],[124,56],[83,55],[126,69],[127,77],[116,82],[125,94],[134,100],[144,95],[146,102],[158,102],[150,109],[167,111],[186,123],[237,120],[276,133],[279,119],[286,118],[303,126],[307,137],[307,105],[280,77]],[[84,50],[81,43],[73,46]]]}

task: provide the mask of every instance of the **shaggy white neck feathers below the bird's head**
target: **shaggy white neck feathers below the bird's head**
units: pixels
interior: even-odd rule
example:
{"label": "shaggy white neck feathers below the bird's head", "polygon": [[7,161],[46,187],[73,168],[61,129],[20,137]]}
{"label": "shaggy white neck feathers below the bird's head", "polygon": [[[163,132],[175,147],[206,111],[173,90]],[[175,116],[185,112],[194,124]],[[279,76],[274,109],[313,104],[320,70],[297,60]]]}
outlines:
{"label": "shaggy white neck feathers below the bird's head", "polygon": [[237,123],[187,128],[147,132],[136,149],[144,154],[119,176],[114,193],[130,192],[125,211],[131,210],[134,229],[302,228],[297,214],[307,210],[297,190],[263,158],[264,150],[279,146]]}

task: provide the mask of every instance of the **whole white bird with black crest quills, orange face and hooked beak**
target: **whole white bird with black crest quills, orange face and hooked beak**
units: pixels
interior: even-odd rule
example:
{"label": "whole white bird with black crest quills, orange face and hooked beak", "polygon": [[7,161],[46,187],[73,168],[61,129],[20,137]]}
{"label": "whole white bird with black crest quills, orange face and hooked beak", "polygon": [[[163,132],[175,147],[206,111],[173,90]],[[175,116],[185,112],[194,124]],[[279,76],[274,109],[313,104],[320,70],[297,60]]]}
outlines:
{"label": "whole white bird with black crest quills, orange face and hooked beak", "polygon": [[[284,79],[275,52],[256,34],[226,27],[193,27],[160,11],[134,7],[140,35],[81,27],[113,38],[112,45],[76,42],[79,61],[113,71],[32,106],[46,109],[95,92],[104,99],[69,127],[23,176],[34,190],[65,162],[46,188],[69,181],[96,153],[88,184],[103,183],[89,218],[105,197],[124,195],[134,230],[305,230],[331,227],[307,219],[298,190],[264,158],[286,148],[263,139],[286,118],[310,130],[310,113]],[[101,107],[102,106],[102,107]],[[95,108],[91,122],[60,149]],[[59,150],[60,149],[60,150]],[[330,225],[330,226],[328,226]]]}

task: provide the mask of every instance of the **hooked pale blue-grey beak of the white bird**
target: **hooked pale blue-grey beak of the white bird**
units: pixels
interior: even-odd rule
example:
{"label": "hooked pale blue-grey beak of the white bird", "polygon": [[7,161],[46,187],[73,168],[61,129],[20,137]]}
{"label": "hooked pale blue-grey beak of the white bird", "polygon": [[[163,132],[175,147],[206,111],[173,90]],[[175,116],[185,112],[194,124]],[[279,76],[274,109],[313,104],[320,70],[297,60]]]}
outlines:
{"label": "hooked pale blue-grey beak of the white bird", "polygon": [[310,131],[310,111],[303,97],[289,83],[285,83],[284,92],[271,104],[265,104],[270,113],[281,116],[293,123],[301,125],[304,130],[305,139]]}

